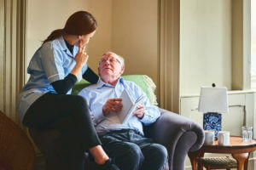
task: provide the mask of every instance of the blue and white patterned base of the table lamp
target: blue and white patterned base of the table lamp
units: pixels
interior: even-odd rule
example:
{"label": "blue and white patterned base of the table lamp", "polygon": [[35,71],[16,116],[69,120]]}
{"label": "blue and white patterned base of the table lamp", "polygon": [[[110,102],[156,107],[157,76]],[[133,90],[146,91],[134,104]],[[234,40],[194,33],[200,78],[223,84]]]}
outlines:
{"label": "blue and white patterned base of the table lamp", "polygon": [[204,113],[203,127],[204,130],[213,130],[215,138],[217,138],[218,132],[221,131],[221,114],[214,112]]}

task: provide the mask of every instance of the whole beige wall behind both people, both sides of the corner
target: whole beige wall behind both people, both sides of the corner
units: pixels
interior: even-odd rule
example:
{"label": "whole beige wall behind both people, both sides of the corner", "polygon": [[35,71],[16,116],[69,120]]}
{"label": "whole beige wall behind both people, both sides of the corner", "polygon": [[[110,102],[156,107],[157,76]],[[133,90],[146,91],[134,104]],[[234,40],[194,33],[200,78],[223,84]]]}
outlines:
{"label": "whole beige wall behind both people, both sides of the corner", "polygon": [[98,29],[90,40],[88,64],[97,71],[109,50],[124,56],[125,74],[146,74],[157,82],[157,0],[28,0],[27,63],[49,33],[62,28],[70,14],[88,10]]}

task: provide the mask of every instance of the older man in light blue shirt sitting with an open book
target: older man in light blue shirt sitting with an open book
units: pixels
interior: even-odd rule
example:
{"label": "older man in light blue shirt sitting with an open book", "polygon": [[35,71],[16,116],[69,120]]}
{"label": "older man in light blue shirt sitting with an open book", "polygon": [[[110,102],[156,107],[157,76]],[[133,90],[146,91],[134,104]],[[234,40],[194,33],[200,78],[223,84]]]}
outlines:
{"label": "older man in light blue shirt sitting with an open book", "polygon": [[119,99],[124,89],[133,101],[145,95],[134,82],[121,77],[124,71],[123,58],[113,52],[103,54],[99,63],[101,79],[97,84],[84,88],[79,95],[88,103],[102,147],[120,169],[163,169],[167,159],[166,148],[143,136],[143,124],[156,121],[160,116],[158,108],[150,105],[147,98],[142,105],[137,106],[127,122],[120,124],[113,119],[114,114],[118,114],[125,105]]}

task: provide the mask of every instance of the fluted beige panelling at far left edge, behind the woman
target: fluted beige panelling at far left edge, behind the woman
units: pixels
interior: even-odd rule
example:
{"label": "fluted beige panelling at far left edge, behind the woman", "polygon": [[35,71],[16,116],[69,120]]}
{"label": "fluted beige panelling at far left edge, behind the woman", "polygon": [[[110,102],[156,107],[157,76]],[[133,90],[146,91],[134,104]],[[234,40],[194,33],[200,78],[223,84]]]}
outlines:
{"label": "fluted beige panelling at far left edge, behind the woman", "polygon": [[1,108],[20,123],[16,105],[24,82],[25,0],[1,0]]}

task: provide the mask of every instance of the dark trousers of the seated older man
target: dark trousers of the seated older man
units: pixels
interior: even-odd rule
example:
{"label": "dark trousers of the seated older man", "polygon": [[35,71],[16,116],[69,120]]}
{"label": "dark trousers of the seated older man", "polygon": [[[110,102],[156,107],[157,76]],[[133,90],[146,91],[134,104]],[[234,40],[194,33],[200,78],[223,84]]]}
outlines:
{"label": "dark trousers of the seated older man", "polygon": [[167,161],[166,147],[129,129],[98,133],[103,149],[122,170],[162,170]]}

